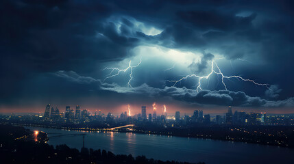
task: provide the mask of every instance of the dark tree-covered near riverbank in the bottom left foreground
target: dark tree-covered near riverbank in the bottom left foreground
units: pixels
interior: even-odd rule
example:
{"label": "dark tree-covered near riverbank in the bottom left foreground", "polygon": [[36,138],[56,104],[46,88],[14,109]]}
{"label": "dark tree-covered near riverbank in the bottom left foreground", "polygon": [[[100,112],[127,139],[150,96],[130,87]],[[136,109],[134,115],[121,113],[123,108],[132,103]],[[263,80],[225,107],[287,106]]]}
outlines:
{"label": "dark tree-covered near riverbank in the bottom left foreground", "polygon": [[[125,163],[125,164],[188,164],[176,161],[147,159],[145,156],[115,155],[106,150],[82,148],[81,151],[66,145],[49,146],[45,139],[36,141],[34,133],[20,127],[0,125],[1,163]],[[198,163],[202,164],[202,163]]]}

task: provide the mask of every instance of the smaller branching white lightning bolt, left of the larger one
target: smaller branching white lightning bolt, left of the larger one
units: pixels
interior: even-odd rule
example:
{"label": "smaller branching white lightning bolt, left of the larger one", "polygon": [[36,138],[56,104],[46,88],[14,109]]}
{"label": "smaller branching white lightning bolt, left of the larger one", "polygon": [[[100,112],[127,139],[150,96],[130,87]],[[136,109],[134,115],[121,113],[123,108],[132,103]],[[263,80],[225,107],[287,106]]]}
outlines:
{"label": "smaller branching white lightning bolt, left of the larger one", "polygon": [[[129,62],[129,66],[127,66],[127,68],[125,68],[125,69],[112,68],[112,67],[110,67],[110,68],[108,68],[108,67],[103,68],[103,70],[111,70],[111,71],[110,71],[110,74],[108,74],[108,77],[106,77],[106,78],[103,80],[103,83],[104,83],[104,81],[106,81],[107,79],[110,79],[110,78],[112,78],[112,77],[117,77],[121,72],[127,72],[127,70],[130,70],[130,79],[129,79],[129,81],[127,81],[127,87],[132,87],[132,85],[131,85],[131,81],[132,81],[132,79],[134,78],[134,77],[133,77],[133,68],[138,67],[138,66],[141,64],[141,62],[142,62],[142,58],[140,58],[140,62],[139,62],[136,66],[131,66],[131,63],[132,63],[132,60],[131,60],[131,61]],[[114,71],[117,71],[117,73],[116,73],[116,74],[112,74]],[[133,88],[133,87],[132,87],[132,88]]]}

